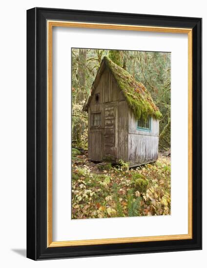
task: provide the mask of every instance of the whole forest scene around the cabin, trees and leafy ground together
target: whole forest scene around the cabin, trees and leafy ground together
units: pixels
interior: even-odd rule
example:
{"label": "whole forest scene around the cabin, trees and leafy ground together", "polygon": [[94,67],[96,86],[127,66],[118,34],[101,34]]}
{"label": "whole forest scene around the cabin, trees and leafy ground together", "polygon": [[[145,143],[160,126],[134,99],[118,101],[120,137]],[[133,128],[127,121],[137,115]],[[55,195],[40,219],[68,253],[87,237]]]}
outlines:
{"label": "whole forest scene around the cabin, trees and leafy ground together", "polygon": [[[163,115],[155,163],[129,169],[88,158],[83,105],[104,56],[142,82]],[[72,219],[169,215],[170,175],[170,53],[72,49]]]}

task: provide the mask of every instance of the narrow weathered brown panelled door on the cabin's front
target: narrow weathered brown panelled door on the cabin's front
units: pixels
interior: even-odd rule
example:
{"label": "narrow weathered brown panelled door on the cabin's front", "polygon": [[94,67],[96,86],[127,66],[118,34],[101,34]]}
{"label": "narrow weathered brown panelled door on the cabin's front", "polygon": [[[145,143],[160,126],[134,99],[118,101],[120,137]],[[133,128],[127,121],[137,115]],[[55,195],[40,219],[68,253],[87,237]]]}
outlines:
{"label": "narrow weathered brown panelled door on the cabin's front", "polygon": [[105,106],[104,160],[116,160],[116,107]]}

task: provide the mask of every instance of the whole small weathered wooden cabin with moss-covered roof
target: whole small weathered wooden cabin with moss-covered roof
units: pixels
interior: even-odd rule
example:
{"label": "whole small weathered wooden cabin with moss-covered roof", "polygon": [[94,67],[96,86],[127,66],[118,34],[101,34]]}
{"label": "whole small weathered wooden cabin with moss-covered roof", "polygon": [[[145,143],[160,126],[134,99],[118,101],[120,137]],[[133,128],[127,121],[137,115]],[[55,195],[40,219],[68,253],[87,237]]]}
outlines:
{"label": "whole small weathered wooden cabin with moss-covered roof", "polygon": [[128,162],[130,167],[156,161],[161,113],[145,86],[104,57],[88,112],[88,155],[92,161]]}

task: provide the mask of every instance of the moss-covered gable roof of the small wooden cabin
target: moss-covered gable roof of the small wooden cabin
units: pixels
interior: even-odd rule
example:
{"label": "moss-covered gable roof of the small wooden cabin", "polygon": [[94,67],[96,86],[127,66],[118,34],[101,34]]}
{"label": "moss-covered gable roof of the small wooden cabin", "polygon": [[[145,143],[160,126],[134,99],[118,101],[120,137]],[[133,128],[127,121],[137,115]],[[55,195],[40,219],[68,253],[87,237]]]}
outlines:
{"label": "moss-covered gable roof of the small wooden cabin", "polygon": [[134,77],[108,57],[102,59],[100,68],[92,85],[91,95],[88,96],[83,106],[84,111],[87,111],[88,109],[91,96],[93,95],[95,87],[103,73],[103,68],[105,69],[105,67],[112,73],[119,89],[125,96],[128,106],[132,109],[133,114],[137,119],[146,120],[148,116],[152,116],[156,119],[162,117],[159,108],[154,104],[153,99],[145,86],[141,82],[136,81]]}

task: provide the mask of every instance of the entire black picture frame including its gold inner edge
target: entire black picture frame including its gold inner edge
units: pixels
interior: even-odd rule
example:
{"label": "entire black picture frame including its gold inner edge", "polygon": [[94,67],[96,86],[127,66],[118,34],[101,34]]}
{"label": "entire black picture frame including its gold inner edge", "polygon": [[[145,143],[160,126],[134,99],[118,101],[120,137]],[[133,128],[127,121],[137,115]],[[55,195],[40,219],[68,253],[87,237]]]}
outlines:
{"label": "entire black picture frame including its gold inner edge", "polygon": [[[52,30],[57,26],[187,34],[187,234],[53,241]],[[196,249],[202,249],[202,19],[38,7],[27,10],[27,257],[46,260]]]}

